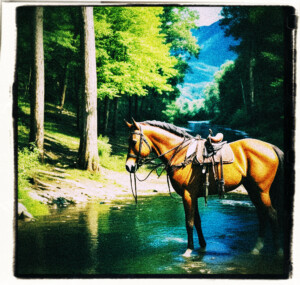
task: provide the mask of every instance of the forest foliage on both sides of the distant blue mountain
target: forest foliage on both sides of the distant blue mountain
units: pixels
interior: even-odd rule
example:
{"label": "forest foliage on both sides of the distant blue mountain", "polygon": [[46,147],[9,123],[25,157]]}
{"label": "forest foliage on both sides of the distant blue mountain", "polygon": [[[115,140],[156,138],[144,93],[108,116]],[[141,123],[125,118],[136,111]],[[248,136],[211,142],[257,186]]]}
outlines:
{"label": "forest foliage on both sides of the distant blue mountain", "polygon": [[[84,45],[80,7],[43,7],[44,100],[76,114],[83,127]],[[19,102],[35,91],[34,7],[17,13]],[[216,72],[201,99],[181,97],[189,59],[201,49],[188,7],[94,7],[97,134],[115,135],[123,118],[184,125],[211,120],[273,143],[283,140],[285,42],[282,7],[223,7],[220,25],[238,40],[234,61]],[[201,17],[201,15],[200,15]],[[199,95],[199,94],[198,94]],[[122,129],[122,128],[121,128]],[[34,139],[32,139],[34,141]]]}

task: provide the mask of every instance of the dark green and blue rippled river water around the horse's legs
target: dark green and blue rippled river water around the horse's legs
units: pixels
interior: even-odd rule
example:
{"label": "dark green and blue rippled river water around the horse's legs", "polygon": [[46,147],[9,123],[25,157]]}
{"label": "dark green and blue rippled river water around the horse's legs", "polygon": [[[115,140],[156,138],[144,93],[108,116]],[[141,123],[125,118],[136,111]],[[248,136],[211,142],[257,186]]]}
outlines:
{"label": "dark green and blue rippled river water around the horse's legs", "polygon": [[190,258],[182,256],[187,237],[181,199],[169,196],[139,197],[137,206],[130,198],[69,207],[35,222],[19,222],[16,273],[32,277],[286,273],[270,238],[261,255],[250,254],[257,218],[247,196],[209,197],[207,207],[202,199],[199,206],[207,250],[199,250],[194,233],[196,248]]}

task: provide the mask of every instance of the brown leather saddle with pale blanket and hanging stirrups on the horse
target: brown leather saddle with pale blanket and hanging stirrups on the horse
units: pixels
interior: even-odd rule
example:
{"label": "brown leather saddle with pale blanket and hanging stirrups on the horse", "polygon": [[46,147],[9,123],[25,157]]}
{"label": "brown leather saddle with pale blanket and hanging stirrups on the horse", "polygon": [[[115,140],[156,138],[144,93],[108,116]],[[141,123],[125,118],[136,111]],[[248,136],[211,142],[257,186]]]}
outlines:
{"label": "brown leather saddle with pale blanket and hanging stirrups on the horse", "polygon": [[[204,199],[205,205],[207,205],[208,197],[208,187],[209,187],[209,171],[208,168],[211,167],[214,173],[214,179],[218,185],[219,197],[222,198],[225,193],[224,177],[223,177],[223,164],[230,164],[234,161],[234,154],[230,145],[225,141],[223,142],[223,134],[219,133],[212,137],[212,131],[210,130],[210,135],[208,138],[201,139],[201,137],[196,137],[190,143],[187,153],[186,161],[192,161],[193,164],[198,164],[203,166],[202,173],[205,174],[204,186]],[[220,164],[220,174],[218,173],[218,168],[216,165]]]}

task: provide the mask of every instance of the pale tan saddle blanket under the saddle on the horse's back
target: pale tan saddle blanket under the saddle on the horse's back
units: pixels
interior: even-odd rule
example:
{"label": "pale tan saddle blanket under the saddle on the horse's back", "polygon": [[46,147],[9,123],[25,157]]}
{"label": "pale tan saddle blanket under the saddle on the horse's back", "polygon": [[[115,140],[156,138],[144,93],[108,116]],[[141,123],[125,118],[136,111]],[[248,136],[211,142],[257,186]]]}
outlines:
{"label": "pale tan saddle blanket under the saddle on the horse's back", "polygon": [[220,163],[220,158],[222,156],[223,164],[233,163],[234,154],[228,143],[222,142],[213,144],[214,148],[216,149],[216,153],[214,156],[212,156],[207,154],[205,141],[206,140],[194,139],[188,147],[186,159],[194,156],[194,163],[203,165],[212,164],[214,157],[214,163],[218,164]]}

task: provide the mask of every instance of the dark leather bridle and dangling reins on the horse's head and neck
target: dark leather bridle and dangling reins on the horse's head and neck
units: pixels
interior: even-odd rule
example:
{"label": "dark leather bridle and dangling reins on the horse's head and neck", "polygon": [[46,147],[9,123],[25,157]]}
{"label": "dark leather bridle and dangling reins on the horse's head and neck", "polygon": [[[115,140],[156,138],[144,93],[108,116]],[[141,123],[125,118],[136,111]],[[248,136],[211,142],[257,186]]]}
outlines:
{"label": "dark leather bridle and dangling reins on the horse's head and neck", "polygon": [[[164,169],[161,171],[161,173],[160,173],[160,174],[157,173],[157,176],[160,177],[164,170],[166,170],[168,167],[172,167],[172,166],[171,166],[171,161],[173,160],[173,158],[175,157],[175,155],[176,155],[181,149],[183,149],[183,148],[186,146],[186,145],[184,146],[184,143],[190,140],[190,138],[184,137],[184,138],[183,138],[183,141],[182,141],[180,144],[178,144],[177,146],[175,146],[175,147],[169,149],[168,151],[166,151],[166,152],[164,152],[164,153],[158,155],[158,156],[155,157],[155,158],[149,158],[149,159],[141,158],[141,152],[142,152],[143,142],[145,142],[145,144],[148,146],[150,153],[151,153],[151,151],[152,151],[152,148],[151,148],[149,142],[147,141],[147,139],[145,138],[145,135],[144,135],[143,130],[142,130],[142,126],[140,125],[139,127],[140,127],[140,131],[134,130],[133,132],[131,132],[131,135],[132,135],[132,136],[133,136],[133,135],[138,135],[138,136],[140,136],[140,144],[139,144],[139,148],[138,148],[138,153],[137,153],[137,154],[131,154],[131,153],[128,151],[128,154],[127,154],[127,159],[128,159],[129,157],[136,158],[136,168],[135,168],[135,170],[134,170],[133,173],[130,172],[130,186],[131,186],[131,192],[132,192],[132,195],[133,195],[133,197],[134,197],[134,199],[135,199],[135,203],[136,203],[136,204],[137,204],[137,186],[136,186],[136,180],[139,180],[140,182],[147,180],[148,177],[150,176],[150,174],[151,174],[154,170],[157,171],[157,169],[158,169],[160,166],[164,165],[163,162],[162,162],[162,163],[158,163],[158,164],[153,163],[153,160],[155,160],[155,159],[157,159],[157,158],[161,158],[161,157],[163,157],[164,155],[168,154],[169,152],[175,150],[174,154],[173,154],[172,157],[169,159],[169,161],[167,162],[167,164],[165,165],[165,167],[164,167]],[[130,143],[129,143],[129,147],[130,147]],[[137,172],[137,170],[138,170],[139,167],[141,167],[142,165],[145,165],[145,164],[152,164],[152,165],[154,165],[154,168],[148,173],[148,175],[147,175],[144,179],[139,179],[139,178],[137,177],[137,175],[136,175],[136,172]],[[180,165],[174,165],[174,166],[175,166],[175,167],[182,167],[182,166],[184,166],[184,164],[185,164],[185,162],[182,163],[182,164],[180,164]],[[133,179],[132,179],[132,176],[133,176]],[[168,175],[168,173],[167,173],[167,182],[168,182],[169,193],[170,193],[170,196],[173,197],[173,196],[171,195],[171,189],[170,189],[170,182],[169,182],[169,179],[170,179],[170,178],[169,178],[169,175]],[[132,182],[132,180],[134,181],[134,187],[133,187],[133,182]]]}

